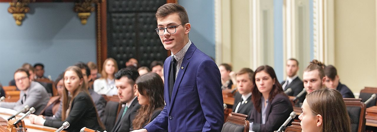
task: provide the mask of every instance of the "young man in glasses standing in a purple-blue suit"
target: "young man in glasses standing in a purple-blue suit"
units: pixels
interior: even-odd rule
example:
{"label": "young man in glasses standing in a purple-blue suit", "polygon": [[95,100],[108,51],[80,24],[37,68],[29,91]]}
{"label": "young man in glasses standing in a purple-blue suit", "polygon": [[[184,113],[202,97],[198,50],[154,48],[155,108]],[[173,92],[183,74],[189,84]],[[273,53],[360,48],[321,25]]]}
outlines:
{"label": "young man in glasses standing in a purple-blue suit", "polygon": [[189,40],[184,7],[167,3],[156,12],[162,45],[172,51],[164,63],[164,110],[135,132],[220,132],[224,123],[221,75],[215,62]]}

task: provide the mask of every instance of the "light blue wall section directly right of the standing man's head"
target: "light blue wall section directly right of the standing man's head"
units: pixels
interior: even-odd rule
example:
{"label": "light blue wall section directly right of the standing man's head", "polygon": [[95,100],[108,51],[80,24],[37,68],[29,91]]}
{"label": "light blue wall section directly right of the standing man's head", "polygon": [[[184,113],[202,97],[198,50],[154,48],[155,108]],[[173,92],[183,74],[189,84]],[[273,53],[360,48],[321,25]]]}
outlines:
{"label": "light blue wall section directly right of the standing man's head", "polygon": [[191,24],[190,40],[205,54],[215,58],[215,1],[179,0]]}

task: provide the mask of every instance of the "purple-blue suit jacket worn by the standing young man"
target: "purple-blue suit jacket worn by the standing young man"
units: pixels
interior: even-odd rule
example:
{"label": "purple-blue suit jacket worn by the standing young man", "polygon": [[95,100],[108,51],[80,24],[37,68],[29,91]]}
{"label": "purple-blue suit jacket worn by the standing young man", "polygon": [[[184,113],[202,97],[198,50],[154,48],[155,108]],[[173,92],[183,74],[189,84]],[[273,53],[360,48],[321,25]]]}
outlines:
{"label": "purple-blue suit jacket worn by the standing young man", "polygon": [[169,97],[170,62],[164,63],[164,99],[161,113],[147,126],[149,132],[220,132],[224,123],[218,66],[194,43],[187,50]]}

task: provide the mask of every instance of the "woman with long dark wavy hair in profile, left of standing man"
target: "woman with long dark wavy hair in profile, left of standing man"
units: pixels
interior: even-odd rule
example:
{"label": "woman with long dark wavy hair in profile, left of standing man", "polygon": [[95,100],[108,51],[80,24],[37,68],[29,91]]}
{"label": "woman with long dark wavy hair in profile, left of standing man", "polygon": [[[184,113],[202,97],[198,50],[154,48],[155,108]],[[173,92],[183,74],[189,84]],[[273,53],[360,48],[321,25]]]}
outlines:
{"label": "woman with long dark wavy hair in profile, left of standing man", "polygon": [[164,108],[164,83],[156,73],[147,73],[136,80],[136,92],[141,107],[133,121],[133,130],[141,129],[155,119]]}

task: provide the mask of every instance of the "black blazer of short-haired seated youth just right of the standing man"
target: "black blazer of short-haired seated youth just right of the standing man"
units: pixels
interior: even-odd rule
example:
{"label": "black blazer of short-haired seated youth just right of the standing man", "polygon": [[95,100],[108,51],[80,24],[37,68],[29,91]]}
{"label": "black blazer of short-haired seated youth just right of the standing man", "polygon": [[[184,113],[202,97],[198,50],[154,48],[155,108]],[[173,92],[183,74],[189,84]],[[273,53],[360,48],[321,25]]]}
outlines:
{"label": "black blazer of short-haired seated youth just right of the standing man", "polygon": [[[254,110],[254,104],[251,101],[251,96],[249,98],[247,98],[247,102],[245,102],[244,104],[241,104],[239,106],[238,111],[237,111],[237,113],[248,115],[249,118],[251,116],[251,111]],[[234,105],[233,105],[233,108],[232,108],[233,109],[232,112],[234,112],[236,110],[236,107],[237,107],[239,102],[242,102],[242,95],[240,93],[236,92],[234,94]]]}

